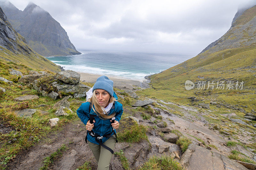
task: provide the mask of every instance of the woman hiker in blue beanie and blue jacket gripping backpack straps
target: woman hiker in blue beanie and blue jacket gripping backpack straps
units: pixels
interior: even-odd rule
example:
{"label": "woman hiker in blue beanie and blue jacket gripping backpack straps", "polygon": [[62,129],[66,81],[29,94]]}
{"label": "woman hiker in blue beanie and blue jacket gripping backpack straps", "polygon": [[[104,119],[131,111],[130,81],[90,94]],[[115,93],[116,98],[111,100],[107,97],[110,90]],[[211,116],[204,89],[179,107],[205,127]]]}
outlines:
{"label": "woman hiker in blue beanie and blue jacket gripping backpack straps", "polygon": [[[86,93],[86,103],[76,110],[78,117],[86,125],[88,145],[98,162],[97,170],[108,170],[116,144],[116,130],[123,114],[123,105],[116,101],[113,81],[100,76],[92,89]],[[89,92],[88,91],[88,92]],[[116,97],[116,98],[115,98]]]}

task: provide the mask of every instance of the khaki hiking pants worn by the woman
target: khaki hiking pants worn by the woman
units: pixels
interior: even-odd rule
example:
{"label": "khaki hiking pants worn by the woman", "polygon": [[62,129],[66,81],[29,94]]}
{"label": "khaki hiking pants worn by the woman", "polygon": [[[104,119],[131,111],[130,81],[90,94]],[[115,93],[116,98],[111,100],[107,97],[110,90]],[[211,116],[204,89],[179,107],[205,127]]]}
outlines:
{"label": "khaki hiking pants worn by the woman", "polygon": [[[115,138],[108,138],[106,142],[103,143],[104,145],[108,146],[112,150],[114,150],[116,139]],[[109,170],[109,163],[112,157],[112,153],[105,149],[104,147],[94,144],[88,141],[88,145],[92,150],[92,153],[95,159],[98,162],[97,170]]]}

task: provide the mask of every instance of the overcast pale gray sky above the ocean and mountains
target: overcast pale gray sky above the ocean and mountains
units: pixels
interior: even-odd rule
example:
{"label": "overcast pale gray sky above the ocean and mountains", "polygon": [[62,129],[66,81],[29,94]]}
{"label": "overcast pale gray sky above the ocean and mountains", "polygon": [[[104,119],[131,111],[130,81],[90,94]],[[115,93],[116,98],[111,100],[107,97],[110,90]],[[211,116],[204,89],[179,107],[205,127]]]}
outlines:
{"label": "overcast pale gray sky above the ocean and mountains", "polygon": [[256,0],[10,0],[48,11],[76,49],[195,56],[231,26],[238,8]]}

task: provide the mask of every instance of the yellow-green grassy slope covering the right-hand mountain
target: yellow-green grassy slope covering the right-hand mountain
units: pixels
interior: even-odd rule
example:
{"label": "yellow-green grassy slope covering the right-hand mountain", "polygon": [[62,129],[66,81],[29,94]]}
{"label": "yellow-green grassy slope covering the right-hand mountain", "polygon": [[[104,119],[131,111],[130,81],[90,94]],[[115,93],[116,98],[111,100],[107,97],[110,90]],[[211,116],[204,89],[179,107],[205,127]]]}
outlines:
{"label": "yellow-green grassy slope covering the right-hand mountain", "polygon": [[[246,10],[239,19],[236,20],[235,27],[238,29],[241,23],[247,23],[254,16],[250,11],[254,11],[256,7]],[[223,37],[229,39],[232,32],[227,32]],[[233,38],[236,35],[232,35]],[[254,35],[255,36],[255,35]],[[232,37],[231,37],[232,38]],[[251,37],[248,37],[249,39]],[[239,41],[239,40],[238,40]],[[239,48],[229,48],[217,52],[213,49],[215,46],[191,58],[181,64],[171,67],[159,74],[151,75],[152,89],[137,91],[138,94],[151,96],[158,99],[174,101],[189,104],[188,97],[197,97],[197,99],[205,100],[204,103],[210,103],[216,100],[222,103],[247,105],[246,111],[250,112],[255,109],[255,77],[256,77],[256,46],[252,43],[250,46]],[[185,89],[185,81],[244,81],[243,89],[206,89],[192,90]],[[226,86],[225,86],[226,88]],[[196,94],[197,95],[196,95]],[[246,95],[245,95],[246,94]],[[202,103],[202,102],[201,102]]]}

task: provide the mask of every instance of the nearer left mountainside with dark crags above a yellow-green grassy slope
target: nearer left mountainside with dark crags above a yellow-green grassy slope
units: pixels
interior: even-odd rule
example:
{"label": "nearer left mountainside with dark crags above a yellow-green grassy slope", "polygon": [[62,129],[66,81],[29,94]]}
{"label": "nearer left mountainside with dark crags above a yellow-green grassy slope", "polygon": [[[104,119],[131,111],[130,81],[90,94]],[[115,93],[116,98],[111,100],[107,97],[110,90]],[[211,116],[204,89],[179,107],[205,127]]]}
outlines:
{"label": "nearer left mountainside with dark crags above a yellow-green grassy slope", "polygon": [[23,63],[35,69],[60,71],[60,67],[34,52],[17,33],[0,7],[0,60]]}

